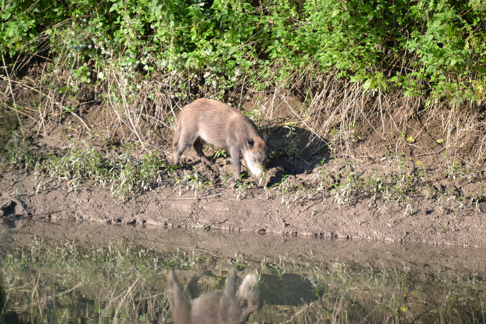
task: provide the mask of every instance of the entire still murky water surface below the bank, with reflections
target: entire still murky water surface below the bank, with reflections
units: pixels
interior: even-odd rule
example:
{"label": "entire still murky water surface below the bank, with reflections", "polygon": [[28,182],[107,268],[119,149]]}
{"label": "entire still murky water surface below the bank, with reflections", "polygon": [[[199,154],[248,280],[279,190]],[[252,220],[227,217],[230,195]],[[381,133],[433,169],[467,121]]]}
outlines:
{"label": "entire still murky water surface below the bank, with reflections", "polygon": [[1,323],[485,323],[485,250],[6,220]]}

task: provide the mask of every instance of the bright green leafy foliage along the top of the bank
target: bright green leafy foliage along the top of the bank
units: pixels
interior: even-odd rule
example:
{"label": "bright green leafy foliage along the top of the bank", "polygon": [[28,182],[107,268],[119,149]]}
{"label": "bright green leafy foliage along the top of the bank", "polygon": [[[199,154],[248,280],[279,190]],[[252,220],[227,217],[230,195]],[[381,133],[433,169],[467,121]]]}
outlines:
{"label": "bright green leafy foliage along the top of the bank", "polygon": [[256,90],[335,74],[429,103],[485,99],[484,0],[0,0],[0,8],[0,51],[10,57],[48,48],[68,65],[116,59],[133,73],[210,71]]}

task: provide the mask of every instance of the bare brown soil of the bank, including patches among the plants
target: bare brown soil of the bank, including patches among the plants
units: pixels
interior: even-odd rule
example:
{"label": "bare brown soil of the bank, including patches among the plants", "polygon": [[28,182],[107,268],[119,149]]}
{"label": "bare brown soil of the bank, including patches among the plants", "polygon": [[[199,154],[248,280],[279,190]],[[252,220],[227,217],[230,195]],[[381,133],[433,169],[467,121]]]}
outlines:
{"label": "bare brown soil of the bank, including patches among the plants", "polygon": [[[5,87],[1,90],[6,91]],[[17,104],[24,101],[28,105],[36,98],[35,93],[25,87],[17,86],[15,91]],[[251,111],[255,105],[254,99],[246,102],[243,109]],[[218,158],[212,165],[206,166],[199,163],[199,158],[190,148],[182,155],[179,174],[195,167],[202,178],[211,183],[205,192],[198,193],[199,199],[194,199],[193,191],[183,190],[183,194],[179,196],[178,189],[162,185],[154,186],[153,191],[144,192],[129,201],[122,201],[111,196],[109,187],[93,187],[86,183],[76,191],[67,191],[65,184],[57,183],[55,179],[47,181],[45,189],[36,194],[34,175],[4,166],[0,175],[1,212],[3,216],[33,219],[124,222],[299,236],[486,245],[485,203],[471,204],[455,199],[480,192],[485,186],[476,179],[452,179],[446,174],[448,162],[445,161],[442,146],[437,143],[440,137],[438,127],[426,127],[413,144],[397,144],[399,141],[396,135],[386,135],[391,132],[391,126],[387,126],[390,119],[375,116],[368,122],[358,123],[353,136],[333,138],[329,134],[328,143],[319,144],[313,141],[312,145],[307,146],[313,134],[304,124],[290,125],[294,128],[294,135],[289,136],[289,123],[296,121],[292,109],[295,110],[298,105],[297,100],[290,100],[288,107],[282,102],[275,102],[277,110],[270,134],[270,151],[273,150],[274,154],[266,165],[270,194],[262,188],[251,188],[245,196],[238,197],[235,189],[228,184],[225,186],[222,180],[222,176],[234,171],[230,160]],[[69,114],[61,122],[51,121],[42,127],[39,124],[29,124],[32,120],[25,116],[21,116],[21,121],[24,132],[27,133],[26,137],[30,138],[32,149],[40,154],[62,156],[73,143],[80,146],[86,143],[101,151],[113,146],[121,150],[125,135],[122,132],[111,132],[107,127],[110,119],[103,117],[103,114],[103,107],[97,102],[79,112],[91,125],[90,133],[85,132],[84,125],[78,118]],[[9,125],[17,119],[11,111],[4,111],[3,115],[0,127],[2,129],[11,127]],[[417,129],[422,127],[418,119],[415,126]],[[135,150],[142,153],[147,149],[157,150],[161,158],[170,161],[173,131],[169,127],[162,127],[153,130],[153,133],[150,143],[144,147],[136,147]],[[346,144],[343,143],[343,138],[349,141],[346,151],[343,150]],[[395,142],[393,138],[396,139]],[[294,142],[291,143],[292,139]],[[297,146],[299,154],[289,159],[285,152],[291,150],[293,144]],[[472,147],[473,143],[468,143],[464,147],[465,153],[452,159],[460,159],[460,165],[466,166]],[[212,157],[215,152],[206,148],[206,153],[208,157]],[[372,201],[369,196],[362,195],[342,204],[334,201],[329,190],[303,200],[292,201],[292,193],[277,194],[274,189],[286,176],[292,184],[315,188],[316,168],[323,159],[326,170],[332,172],[328,178],[330,183],[341,183],[346,174],[352,172],[360,177],[396,174],[397,170],[390,159],[384,157],[397,153],[404,161],[403,172],[417,171],[422,166],[426,166],[428,172],[428,180],[423,184],[423,190],[411,193],[408,200],[403,199],[398,203],[386,203],[383,199]],[[427,194],[427,190],[431,189],[440,195],[431,197]],[[412,210],[407,210],[407,205]]]}

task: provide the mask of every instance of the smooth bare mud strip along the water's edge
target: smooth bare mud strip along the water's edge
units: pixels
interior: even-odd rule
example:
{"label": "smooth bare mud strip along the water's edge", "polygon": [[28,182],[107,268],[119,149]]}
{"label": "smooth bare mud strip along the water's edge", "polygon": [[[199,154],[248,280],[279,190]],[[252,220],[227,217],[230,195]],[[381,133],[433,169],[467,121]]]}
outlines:
{"label": "smooth bare mud strip along the water's edge", "polygon": [[65,185],[51,181],[36,194],[34,182],[33,175],[12,171],[2,174],[0,192],[5,216],[486,245],[483,207],[460,206],[453,199],[414,199],[415,210],[410,215],[403,205],[379,201],[371,206],[366,201],[341,205],[331,198],[318,198],[286,205],[281,196],[267,197],[261,189],[237,198],[234,188],[216,188],[195,199],[193,191],[179,196],[176,188],[161,186],[131,201],[122,201],[111,196],[108,186],[85,185],[67,191]]}

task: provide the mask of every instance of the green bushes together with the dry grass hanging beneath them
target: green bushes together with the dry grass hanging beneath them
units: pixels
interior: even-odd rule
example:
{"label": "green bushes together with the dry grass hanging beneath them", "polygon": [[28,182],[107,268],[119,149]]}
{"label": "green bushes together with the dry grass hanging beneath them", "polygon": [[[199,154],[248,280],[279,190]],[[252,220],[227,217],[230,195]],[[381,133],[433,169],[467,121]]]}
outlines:
{"label": "green bushes together with the dry grass hanging beneath them", "polygon": [[[383,132],[384,115],[416,138],[425,125],[407,122],[421,115],[447,130],[449,154],[460,141],[477,164],[486,158],[484,1],[0,0],[0,9],[12,70],[47,58],[31,111],[45,112],[39,124],[67,118],[66,107],[81,114],[89,92],[117,119],[105,120],[110,132],[127,128],[125,140],[145,144],[199,97],[240,108],[258,94],[265,122],[275,100],[294,96],[292,118],[312,141],[339,129],[348,147],[344,130],[373,113]],[[295,144],[286,153],[306,145]]]}

